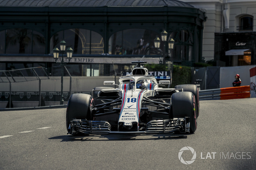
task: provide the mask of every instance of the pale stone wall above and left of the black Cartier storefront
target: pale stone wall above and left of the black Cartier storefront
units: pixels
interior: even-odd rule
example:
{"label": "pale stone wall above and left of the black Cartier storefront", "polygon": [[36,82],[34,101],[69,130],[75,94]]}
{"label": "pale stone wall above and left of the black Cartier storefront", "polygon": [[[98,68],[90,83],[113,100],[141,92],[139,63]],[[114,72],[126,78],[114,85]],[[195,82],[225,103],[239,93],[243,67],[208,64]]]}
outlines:
{"label": "pale stone wall above and left of the black Cartier storefront", "polygon": [[214,59],[214,33],[237,32],[239,17],[253,16],[256,31],[256,0],[180,0],[206,11],[203,31],[204,60]]}

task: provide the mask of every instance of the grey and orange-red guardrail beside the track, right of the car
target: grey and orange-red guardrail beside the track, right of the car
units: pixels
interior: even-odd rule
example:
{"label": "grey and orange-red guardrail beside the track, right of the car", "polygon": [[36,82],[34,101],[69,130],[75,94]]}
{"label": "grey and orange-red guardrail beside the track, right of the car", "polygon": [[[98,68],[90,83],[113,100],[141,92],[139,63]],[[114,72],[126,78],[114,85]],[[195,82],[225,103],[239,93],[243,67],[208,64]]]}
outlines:
{"label": "grey and orange-red guardrail beside the track, right of the car", "polygon": [[249,85],[199,91],[199,100],[227,100],[243,98],[250,98]]}

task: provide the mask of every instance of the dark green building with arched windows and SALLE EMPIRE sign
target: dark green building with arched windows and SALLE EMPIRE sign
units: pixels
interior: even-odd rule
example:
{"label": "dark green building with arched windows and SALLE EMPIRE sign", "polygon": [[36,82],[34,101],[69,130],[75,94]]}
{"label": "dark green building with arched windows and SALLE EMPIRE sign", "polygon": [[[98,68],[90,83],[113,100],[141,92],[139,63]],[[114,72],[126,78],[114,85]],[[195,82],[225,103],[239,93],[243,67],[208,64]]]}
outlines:
{"label": "dark green building with arched windows and SALLE EMPIRE sign", "polygon": [[[0,70],[58,65],[52,53],[62,40],[74,50],[69,64],[86,68],[142,56],[158,62],[164,54],[201,62],[205,20],[204,11],[179,0],[0,0]],[[164,30],[173,49],[167,41],[154,47]]]}

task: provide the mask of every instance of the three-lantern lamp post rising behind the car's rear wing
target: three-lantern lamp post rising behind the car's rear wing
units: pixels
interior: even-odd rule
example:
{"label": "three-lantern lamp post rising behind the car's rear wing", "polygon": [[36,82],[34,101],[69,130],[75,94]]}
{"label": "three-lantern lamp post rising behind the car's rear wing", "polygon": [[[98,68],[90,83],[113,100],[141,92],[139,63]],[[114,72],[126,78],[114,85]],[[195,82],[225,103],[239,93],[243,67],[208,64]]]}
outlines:
{"label": "three-lantern lamp post rising behind the car's rear wing", "polygon": [[[162,33],[161,33],[161,40],[164,42],[164,52],[162,53],[162,55],[163,55],[163,60],[164,60],[164,63],[165,63],[165,58],[167,57],[167,52],[166,52],[166,48],[165,48],[165,44],[166,44],[166,42],[167,42],[167,35],[168,35],[168,33],[164,30],[164,31],[162,31]],[[158,38],[158,37],[156,37],[156,39],[154,40],[154,43],[155,43],[155,48],[160,48],[160,42],[161,42],[161,40]],[[172,60],[172,49],[173,49],[173,45],[174,45],[174,40],[173,39],[169,39],[168,40],[168,50],[170,49],[170,59],[169,60]],[[162,61],[160,60],[160,62],[159,63],[162,63]]]}

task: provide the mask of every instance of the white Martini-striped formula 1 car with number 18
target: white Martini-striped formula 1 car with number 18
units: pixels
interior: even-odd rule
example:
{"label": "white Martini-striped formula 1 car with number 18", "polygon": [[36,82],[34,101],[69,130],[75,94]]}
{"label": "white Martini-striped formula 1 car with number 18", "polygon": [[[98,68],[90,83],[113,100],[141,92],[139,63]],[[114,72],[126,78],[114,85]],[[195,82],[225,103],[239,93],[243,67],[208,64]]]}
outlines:
{"label": "white Martini-striped formula 1 car with number 18", "polygon": [[104,81],[116,88],[95,87],[92,96],[72,94],[66,112],[68,134],[194,133],[199,115],[197,86],[169,88],[171,71],[148,72],[141,65],[145,63],[132,62],[137,67],[123,72],[119,85]]}

